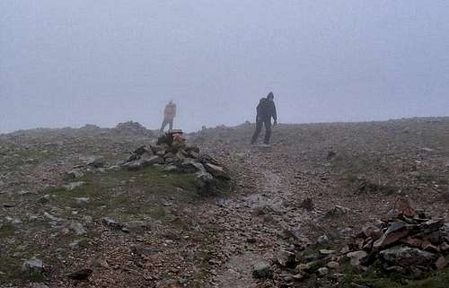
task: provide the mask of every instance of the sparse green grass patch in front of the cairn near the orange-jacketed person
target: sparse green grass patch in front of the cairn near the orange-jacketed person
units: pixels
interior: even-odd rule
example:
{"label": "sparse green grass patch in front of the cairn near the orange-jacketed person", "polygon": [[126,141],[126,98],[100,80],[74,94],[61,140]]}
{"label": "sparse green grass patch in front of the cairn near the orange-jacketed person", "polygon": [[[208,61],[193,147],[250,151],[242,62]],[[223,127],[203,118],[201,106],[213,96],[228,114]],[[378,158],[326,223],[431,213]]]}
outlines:
{"label": "sparse green grass patch in front of the cairn near the orange-jacketed person", "polygon": [[[199,199],[192,174],[171,174],[161,168],[144,170],[114,170],[99,174],[86,174],[76,181],[84,186],[72,191],[66,188],[49,188],[51,205],[73,207],[93,216],[114,216],[119,221],[134,220],[150,216],[163,220],[168,214],[163,207],[167,198],[174,201],[191,202]],[[220,183],[220,189],[226,190]],[[89,198],[87,203],[77,203],[75,198]],[[71,215],[67,211],[67,217]]]}

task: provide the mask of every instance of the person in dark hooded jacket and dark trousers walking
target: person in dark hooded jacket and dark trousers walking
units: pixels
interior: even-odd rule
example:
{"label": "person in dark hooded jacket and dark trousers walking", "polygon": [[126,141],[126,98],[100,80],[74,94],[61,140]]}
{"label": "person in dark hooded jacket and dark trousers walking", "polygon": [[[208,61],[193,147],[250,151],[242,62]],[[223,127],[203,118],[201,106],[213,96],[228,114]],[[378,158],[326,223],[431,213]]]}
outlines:
{"label": "person in dark hooded jacket and dark trousers walking", "polygon": [[271,137],[271,118],[274,120],[274,125],[277,125],[277,113],[274,98],[275,95],[273,92],[269,92],[267,98],[260,99],[259,105],[257,106],[256,130],[254,131],[254,135],[252,135],[251,144],[256,143],[260,131],[262,130],[262,126],[265,126],[265,139],[263,143],[269,144],[269,138]]}

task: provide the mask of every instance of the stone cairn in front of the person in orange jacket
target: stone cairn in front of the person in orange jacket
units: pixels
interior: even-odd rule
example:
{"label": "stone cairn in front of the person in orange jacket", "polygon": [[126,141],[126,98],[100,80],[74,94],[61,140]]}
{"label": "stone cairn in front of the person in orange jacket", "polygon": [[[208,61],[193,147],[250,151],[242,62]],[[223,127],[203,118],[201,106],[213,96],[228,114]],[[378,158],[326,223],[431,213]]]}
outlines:
{"label": "stone cairn in front of the person in orange jacket", "polygon": [[141,146],[120,166],[140,170],[152,165],[163,166],[170,173],[195,174],[200,194],[215,192],[218,180],[230,180],[228,171],[218,161],[200,154],[197,146],[186,143],[181,130],[171,130],[159,137],[157,143]]}

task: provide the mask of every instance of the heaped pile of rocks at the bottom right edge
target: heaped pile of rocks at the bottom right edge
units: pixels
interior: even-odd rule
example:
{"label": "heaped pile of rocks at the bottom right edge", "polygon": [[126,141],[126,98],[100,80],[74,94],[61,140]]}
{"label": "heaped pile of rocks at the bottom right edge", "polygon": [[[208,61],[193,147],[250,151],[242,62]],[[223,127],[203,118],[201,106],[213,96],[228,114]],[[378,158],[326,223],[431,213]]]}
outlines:
{"label": "heaped pile of rocks at the bottom right edge", "polygon": [[442,270],[449,259],[449,223],[431,219],[400,200],[386,221],[367,225],[357,235],[356,251],[347,254],[353,266],[378,265],[385,272],[422,275]]}

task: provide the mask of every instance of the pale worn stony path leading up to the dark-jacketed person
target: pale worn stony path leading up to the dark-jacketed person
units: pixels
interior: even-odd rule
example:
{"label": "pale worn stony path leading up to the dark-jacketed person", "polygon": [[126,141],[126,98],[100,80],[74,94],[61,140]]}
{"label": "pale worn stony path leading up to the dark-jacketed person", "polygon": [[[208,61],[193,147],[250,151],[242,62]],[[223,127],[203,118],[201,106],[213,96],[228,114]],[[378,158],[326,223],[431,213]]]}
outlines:
{"label": "pale worn stony path leading up to the dark-jacketed person", "polygon": [[242,170],[236,175],[237,188],[204,211],[204,218],[212,219],[220,230],[211,259],[216,265],[211,287],[258,287],[252,266],[270,262],[280,249],[288,249],[292,238],[306,241],[313,218],[311,212],[298,209],[302,187],[286,180],[286,170],[277,169],[276,148],[237,147],[243,151],[236,153],[241,159],[234,164]]}

